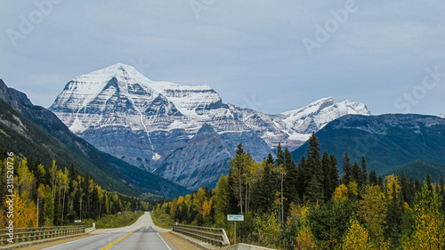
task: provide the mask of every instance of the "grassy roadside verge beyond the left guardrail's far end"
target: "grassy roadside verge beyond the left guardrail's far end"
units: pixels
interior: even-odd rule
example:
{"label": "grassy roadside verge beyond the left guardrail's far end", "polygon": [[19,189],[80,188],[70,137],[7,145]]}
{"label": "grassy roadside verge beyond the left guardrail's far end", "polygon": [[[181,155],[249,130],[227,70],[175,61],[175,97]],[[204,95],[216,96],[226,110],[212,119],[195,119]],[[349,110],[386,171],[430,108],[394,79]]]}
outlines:
{"label": "grassy roadside verge beyond the left guardrail's far end", "polygon": [[93,226],[93,222],[96,223],[96,229],[112,229],[120,228],[133,224],[142,216],[144,212],[138,211],[137,214],[131,211],[124,211],[122,215],[119,214],[106,214],[101,216],[100,220],[85,220],[85,227],[89,228]]}

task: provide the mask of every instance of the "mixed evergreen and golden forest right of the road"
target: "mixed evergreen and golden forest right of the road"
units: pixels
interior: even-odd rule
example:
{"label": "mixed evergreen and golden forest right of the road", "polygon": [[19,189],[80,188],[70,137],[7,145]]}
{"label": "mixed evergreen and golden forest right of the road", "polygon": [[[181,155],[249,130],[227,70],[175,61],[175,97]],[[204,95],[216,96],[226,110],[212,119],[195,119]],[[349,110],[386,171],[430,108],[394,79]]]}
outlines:
{"label": "mixed evergreen and golden forest right of the road", "polygon": [[[244,214],[237,242],[277,249],[445,249],[445,187],[401,175],[377,176],[365,157],[320,153],[312,134],[298,165],[279,145],[255,162],[239,144],[216,188],[159,203],[155,213],[174,222],[224,228],[227,214]],[[339,175],[338,165],[343,167]]]}

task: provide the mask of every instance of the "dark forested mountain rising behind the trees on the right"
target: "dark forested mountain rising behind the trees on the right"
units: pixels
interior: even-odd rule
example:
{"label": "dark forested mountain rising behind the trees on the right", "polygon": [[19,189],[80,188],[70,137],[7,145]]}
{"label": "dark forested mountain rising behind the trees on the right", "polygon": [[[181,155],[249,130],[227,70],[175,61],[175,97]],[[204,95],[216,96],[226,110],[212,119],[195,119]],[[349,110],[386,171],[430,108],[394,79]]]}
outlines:
{"label": "dark forested mountain rising behind the trees on the right", "polygon": [[[381,116],[344,116],[316,133],[321,150],[336,155],[342,171],[342,158],[348,152],[352,160],[363,155],[368,169],[377,173],[406,171],[421,180],[427,172],[439,180],[445,175],[445,119],[423,115],[388,114]],[[307,143],[292,156],[299,161]],[[438,172],[439,171],[439,172]]]}

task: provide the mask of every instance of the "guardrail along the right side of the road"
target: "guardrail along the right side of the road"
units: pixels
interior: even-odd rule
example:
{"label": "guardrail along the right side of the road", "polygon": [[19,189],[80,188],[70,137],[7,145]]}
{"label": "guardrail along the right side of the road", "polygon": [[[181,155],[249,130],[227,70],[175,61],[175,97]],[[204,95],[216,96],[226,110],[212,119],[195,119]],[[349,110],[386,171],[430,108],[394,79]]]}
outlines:
{"label": "guardrail along the right side of the road", "polygon": [[229,246],[231,242],[223,229],[203,228],[197,226],[174,225],[173,230],[210,243],[214,246]]}

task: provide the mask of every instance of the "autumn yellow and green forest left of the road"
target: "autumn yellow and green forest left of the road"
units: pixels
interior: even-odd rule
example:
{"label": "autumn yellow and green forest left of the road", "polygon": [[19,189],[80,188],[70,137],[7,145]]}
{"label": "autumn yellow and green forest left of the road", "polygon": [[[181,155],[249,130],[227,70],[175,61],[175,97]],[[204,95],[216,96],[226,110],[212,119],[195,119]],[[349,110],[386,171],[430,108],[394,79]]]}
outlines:
{"label": "autumn yellow and green forest left of the road", "polygon": [[[14,228],[61,226],[75,220],[97,220],[103,214],[150,209],[145,199],[102,190],[88,173],[79,175],[73,164],[61,168],[53,161],[44,166],[38,157],[12,155],[0,149],[0,228],[10,220],[7,195],[15,196]],[[8,179],[13,181],[5,181]]]}

